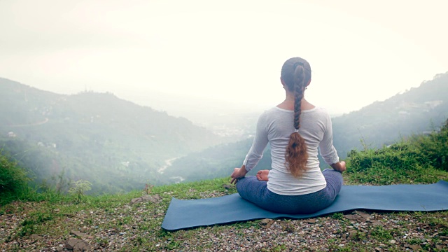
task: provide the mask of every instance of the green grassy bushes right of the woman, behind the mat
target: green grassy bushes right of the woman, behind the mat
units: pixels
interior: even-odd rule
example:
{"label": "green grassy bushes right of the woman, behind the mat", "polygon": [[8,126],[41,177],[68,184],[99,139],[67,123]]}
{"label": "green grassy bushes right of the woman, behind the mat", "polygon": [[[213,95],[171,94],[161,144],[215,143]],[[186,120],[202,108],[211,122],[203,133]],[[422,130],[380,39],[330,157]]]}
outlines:
{"label": "green grassy bushes right of the woman, behind the mat", "polygon": [[415,135],[381,149],[348,153],[347,174],[353,183],[388,185],[435,183],[448,179],[448,120],[440,132]]}

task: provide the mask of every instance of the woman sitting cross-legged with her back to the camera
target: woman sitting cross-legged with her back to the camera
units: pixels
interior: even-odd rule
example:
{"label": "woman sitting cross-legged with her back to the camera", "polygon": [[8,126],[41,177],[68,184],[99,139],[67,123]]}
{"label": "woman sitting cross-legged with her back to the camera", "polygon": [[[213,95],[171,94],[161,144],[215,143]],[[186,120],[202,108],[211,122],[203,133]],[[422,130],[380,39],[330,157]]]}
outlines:
{"label": "woman sitting cross-legged with her back to the camera", "polygon": [[[255,139],[232,182],[239,195],[263,209],[284,214],[309,214],[332,204],[342,187],[345,162],[339,162],[332,145],[328,113],[304,99],[311,82],[311,67],[300,57],[288,59],[281,68],[286,99],[258,118]],[[272,169],[245,177],[267,144],[271,146]],[[321,172],[318,148],[333,169]]]}

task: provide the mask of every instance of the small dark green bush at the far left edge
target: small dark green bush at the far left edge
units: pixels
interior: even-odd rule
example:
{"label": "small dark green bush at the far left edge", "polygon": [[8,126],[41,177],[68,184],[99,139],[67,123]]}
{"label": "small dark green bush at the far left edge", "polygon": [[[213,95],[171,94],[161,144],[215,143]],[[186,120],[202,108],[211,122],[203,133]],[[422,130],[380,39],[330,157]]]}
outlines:
{"label": "small dark green bush at the far left edge", "polygon": [[27,172],[0,151],[0,205],[25,197],[28,182]]}

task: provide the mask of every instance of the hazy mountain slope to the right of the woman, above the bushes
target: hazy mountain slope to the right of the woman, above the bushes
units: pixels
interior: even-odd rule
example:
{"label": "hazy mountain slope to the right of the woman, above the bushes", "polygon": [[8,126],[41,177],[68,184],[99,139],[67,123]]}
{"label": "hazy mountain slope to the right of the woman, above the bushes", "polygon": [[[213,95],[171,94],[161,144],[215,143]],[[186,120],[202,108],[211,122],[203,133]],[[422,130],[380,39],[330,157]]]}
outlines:
{"label": "hazy mountain slope to the right of the woman, above the bushes", "polygon": [[437,130],[448,118],[448,72],[419,87],[374,102],[359,111],[332,119],[339,156],[364,146],[379,148],[402,137]]}

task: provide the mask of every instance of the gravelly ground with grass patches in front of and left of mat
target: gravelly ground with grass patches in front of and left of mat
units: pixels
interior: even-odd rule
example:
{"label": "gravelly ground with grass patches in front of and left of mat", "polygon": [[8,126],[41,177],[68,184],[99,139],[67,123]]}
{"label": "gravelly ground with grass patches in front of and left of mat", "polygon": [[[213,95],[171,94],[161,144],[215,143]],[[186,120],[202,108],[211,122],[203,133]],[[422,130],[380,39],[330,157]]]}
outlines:
{"label": "gravelly ground with grass patches in front of and left of mat", "polygon": [[160,225],[170,199],[147,195],[91,209],[15,202],[0,215],[0,251],[448,251],[447,211],[353,211],[166,232]]}

